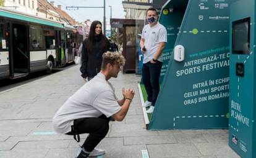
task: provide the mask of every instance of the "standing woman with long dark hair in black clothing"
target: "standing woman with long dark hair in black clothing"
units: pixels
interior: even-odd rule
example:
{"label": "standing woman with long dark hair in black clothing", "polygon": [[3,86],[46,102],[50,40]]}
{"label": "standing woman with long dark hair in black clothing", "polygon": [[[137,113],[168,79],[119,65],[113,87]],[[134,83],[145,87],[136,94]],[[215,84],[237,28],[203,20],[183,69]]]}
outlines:
{"label": "standing woman with long dark hair in black clothing", "polygon": [[81,76],[90,81],[100,72],[102,55],[109,50],[109,41],[102,33],[101,22],[93,21],[89,37],[83,41]]}

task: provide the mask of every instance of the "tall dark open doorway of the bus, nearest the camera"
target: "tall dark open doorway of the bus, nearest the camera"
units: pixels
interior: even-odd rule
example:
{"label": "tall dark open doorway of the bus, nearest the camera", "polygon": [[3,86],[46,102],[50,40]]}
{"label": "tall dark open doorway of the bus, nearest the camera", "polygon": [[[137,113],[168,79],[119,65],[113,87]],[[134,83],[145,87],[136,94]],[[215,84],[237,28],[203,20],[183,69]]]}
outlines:
{"label": "tall dark open doorway of the bus, nearest the camera", "polygon": [[12,24],[11,57],[12,78],[25,76],[29,72],[28,28],[26,25]]}

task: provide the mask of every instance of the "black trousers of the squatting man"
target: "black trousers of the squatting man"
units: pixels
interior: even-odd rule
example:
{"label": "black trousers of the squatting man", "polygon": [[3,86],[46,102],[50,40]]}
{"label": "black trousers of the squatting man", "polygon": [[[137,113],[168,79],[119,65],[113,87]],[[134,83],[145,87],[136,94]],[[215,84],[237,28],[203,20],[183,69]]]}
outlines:
{"label": "black trousers of the squatting man", "polygon": [[109,118],[105,115],[100,117],[88,117],[74,120],[74,128],[67,135],[79,135],[89,133],[82,147],[91,152],[100,143],[109,130]]}

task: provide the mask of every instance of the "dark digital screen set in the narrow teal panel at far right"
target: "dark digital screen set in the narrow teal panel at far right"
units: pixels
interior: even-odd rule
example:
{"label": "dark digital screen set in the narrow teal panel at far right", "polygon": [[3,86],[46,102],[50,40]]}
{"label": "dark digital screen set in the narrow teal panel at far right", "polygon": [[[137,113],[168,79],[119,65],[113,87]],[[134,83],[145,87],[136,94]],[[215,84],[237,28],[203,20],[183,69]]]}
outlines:
{"label": "dark digital screen set in the narrow teal panel at far right", "polygon": [[250,53],[250,18],[232,23],[232,52],[238,54]]}

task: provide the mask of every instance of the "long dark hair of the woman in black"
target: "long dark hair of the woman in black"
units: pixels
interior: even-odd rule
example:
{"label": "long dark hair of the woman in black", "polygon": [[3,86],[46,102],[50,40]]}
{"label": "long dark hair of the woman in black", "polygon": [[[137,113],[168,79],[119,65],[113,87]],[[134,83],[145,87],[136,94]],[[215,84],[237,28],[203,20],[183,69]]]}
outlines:
{"label": "long dark hair of the woman in black", "polygon": [[[87,43],[87,48],[89,50],[89,52],[92,52],[93,49],[93,45],[95,44],[95,29],[96,29],[96,25],[101,24],[100,21],[93,21],[92,25],[90,26],[90,32],[89,32],[89,37],[88,37],[88,43]],[[107,49],[106,48],[106,42],[108,41],[108,39],[106,38],[106,36],[103,35],[102,30],[101,33],[98,35],[100,40],[102,41],[102,45],[101,45],[101,50],[103,49]]]}

